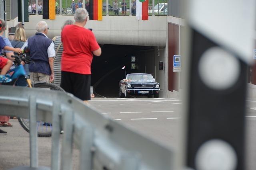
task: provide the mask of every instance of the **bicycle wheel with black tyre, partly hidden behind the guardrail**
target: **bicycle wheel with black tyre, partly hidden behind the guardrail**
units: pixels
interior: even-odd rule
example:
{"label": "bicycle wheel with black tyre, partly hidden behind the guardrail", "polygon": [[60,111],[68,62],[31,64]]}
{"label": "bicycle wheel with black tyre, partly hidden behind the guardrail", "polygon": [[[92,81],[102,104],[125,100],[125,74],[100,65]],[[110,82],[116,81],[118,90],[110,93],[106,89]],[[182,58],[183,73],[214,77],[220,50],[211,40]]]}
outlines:
{"label": "bicycle wheel with black tyre, partly hidden behind the guardrail", "polygon": [[[58,90],[64,92],[64,90],[51,83],[37,83],[34,84],[34,88],[43,88],[43,89],[49,89],[49,90]],[[18,117],[18,121],[22,128],[29,132],[29,119],[24,119],[22,117]],[[43,121],[38,121],[37,122],[37,132],[38,132],[38,137],[51,137],[52,136],[52,124],[43,122]]]}

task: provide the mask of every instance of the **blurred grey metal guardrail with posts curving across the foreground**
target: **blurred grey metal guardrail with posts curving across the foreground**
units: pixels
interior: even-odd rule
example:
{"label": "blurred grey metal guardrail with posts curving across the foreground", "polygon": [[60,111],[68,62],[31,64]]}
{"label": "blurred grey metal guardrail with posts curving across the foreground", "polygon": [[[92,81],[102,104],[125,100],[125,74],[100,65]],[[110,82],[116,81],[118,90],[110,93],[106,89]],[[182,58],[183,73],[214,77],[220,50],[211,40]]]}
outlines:
{"label": "blurred grey metal guardrail with posts curving across the foreground", "polygon": [[52,170],[72,169],[73,143],[80,150],[81,170],[174,170],[170,149],[101,115],[70,94],[0,86],[0,108],[0,115],[30,119],[32,168],[38,167],[36,120],[40,120],[51,122],[53,127]]}

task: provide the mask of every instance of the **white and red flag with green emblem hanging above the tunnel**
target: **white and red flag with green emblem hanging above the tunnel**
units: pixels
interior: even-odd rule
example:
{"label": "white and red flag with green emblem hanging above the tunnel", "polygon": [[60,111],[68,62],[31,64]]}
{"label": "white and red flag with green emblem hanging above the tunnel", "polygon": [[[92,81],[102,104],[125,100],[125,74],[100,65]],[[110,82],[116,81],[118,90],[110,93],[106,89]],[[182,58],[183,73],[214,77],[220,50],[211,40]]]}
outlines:
{"label": "white and red flag with green emblem hanging above the tunnel", "polygon": [[136,20],[148,20],[148,0],[136,0]]}

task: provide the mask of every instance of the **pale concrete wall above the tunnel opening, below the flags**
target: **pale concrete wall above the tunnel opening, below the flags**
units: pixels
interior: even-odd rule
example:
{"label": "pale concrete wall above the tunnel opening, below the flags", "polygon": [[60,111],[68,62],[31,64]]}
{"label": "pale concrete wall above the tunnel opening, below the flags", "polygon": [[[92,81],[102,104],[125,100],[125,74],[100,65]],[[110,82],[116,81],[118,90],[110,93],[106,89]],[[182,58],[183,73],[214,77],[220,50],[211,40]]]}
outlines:
{"label": "pale concrete wall above the tunnel opening, below the flags", "polygon": [[[26,22],[27,37],[36,33],[36,23],[42,21],[42,15],[30,15]],[[48,23],[48,37],[60,35],[61,27],[66,20],[74,16],[56,16],[55,20],[44,20]],[[149,16],[149,20],[138,21],[135,16],[103,16],[102,21],[89,20],[86,28],[92,28],[99,44],[166,46],[167,16]]]}

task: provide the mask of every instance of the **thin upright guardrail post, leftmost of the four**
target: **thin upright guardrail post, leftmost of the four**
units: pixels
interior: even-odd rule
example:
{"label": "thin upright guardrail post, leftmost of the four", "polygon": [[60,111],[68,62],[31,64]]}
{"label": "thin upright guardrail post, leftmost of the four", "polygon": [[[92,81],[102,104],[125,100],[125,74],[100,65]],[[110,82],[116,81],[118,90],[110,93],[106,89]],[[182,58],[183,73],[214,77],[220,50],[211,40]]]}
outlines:
{"label": "thin upright guardrail post, leftmost of the four", "polygon": [[38,167],[38,145],[37,145],[37,121],[36,121],[36,97],[29,97],[29,129],[30,129],[30,167]]}

